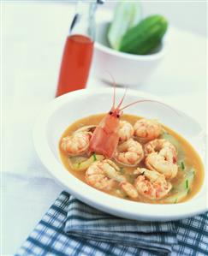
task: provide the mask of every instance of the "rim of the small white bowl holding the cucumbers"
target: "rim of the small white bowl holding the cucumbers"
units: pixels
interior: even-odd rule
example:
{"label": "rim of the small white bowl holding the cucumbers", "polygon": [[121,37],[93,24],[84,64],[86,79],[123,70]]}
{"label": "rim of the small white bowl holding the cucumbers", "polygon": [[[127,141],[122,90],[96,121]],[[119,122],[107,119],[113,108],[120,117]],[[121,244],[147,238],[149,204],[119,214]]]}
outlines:
{"label": "rim of the small white bowl holding the cucumbers", "polygon": [[[108,23],[109,23],[109,21],[100,21],[100,22],[98,22],[97,27],[100,24],[108,24]],[[167,51],[167,42],[165,39],[163,39],[160,51],[152,53],[152,54],[147,54],[147,55],[135,55],[135,54],[127,53],[127,52],[116,51],[114,49],[111,49],[108,46],[105,46],[105,45],[99,43],[96,40],[95,40],[95,48],[98,51],[103,51],[104,53],[106,53],[110,56],[113,56],[113,57],[120,57],[120,58],[124,58],[124,59],[128,59],[128,60],[132,60],[132,61],[145,61],[146,62],[146,61],[154,61],[154,60],[161,59]]]}

